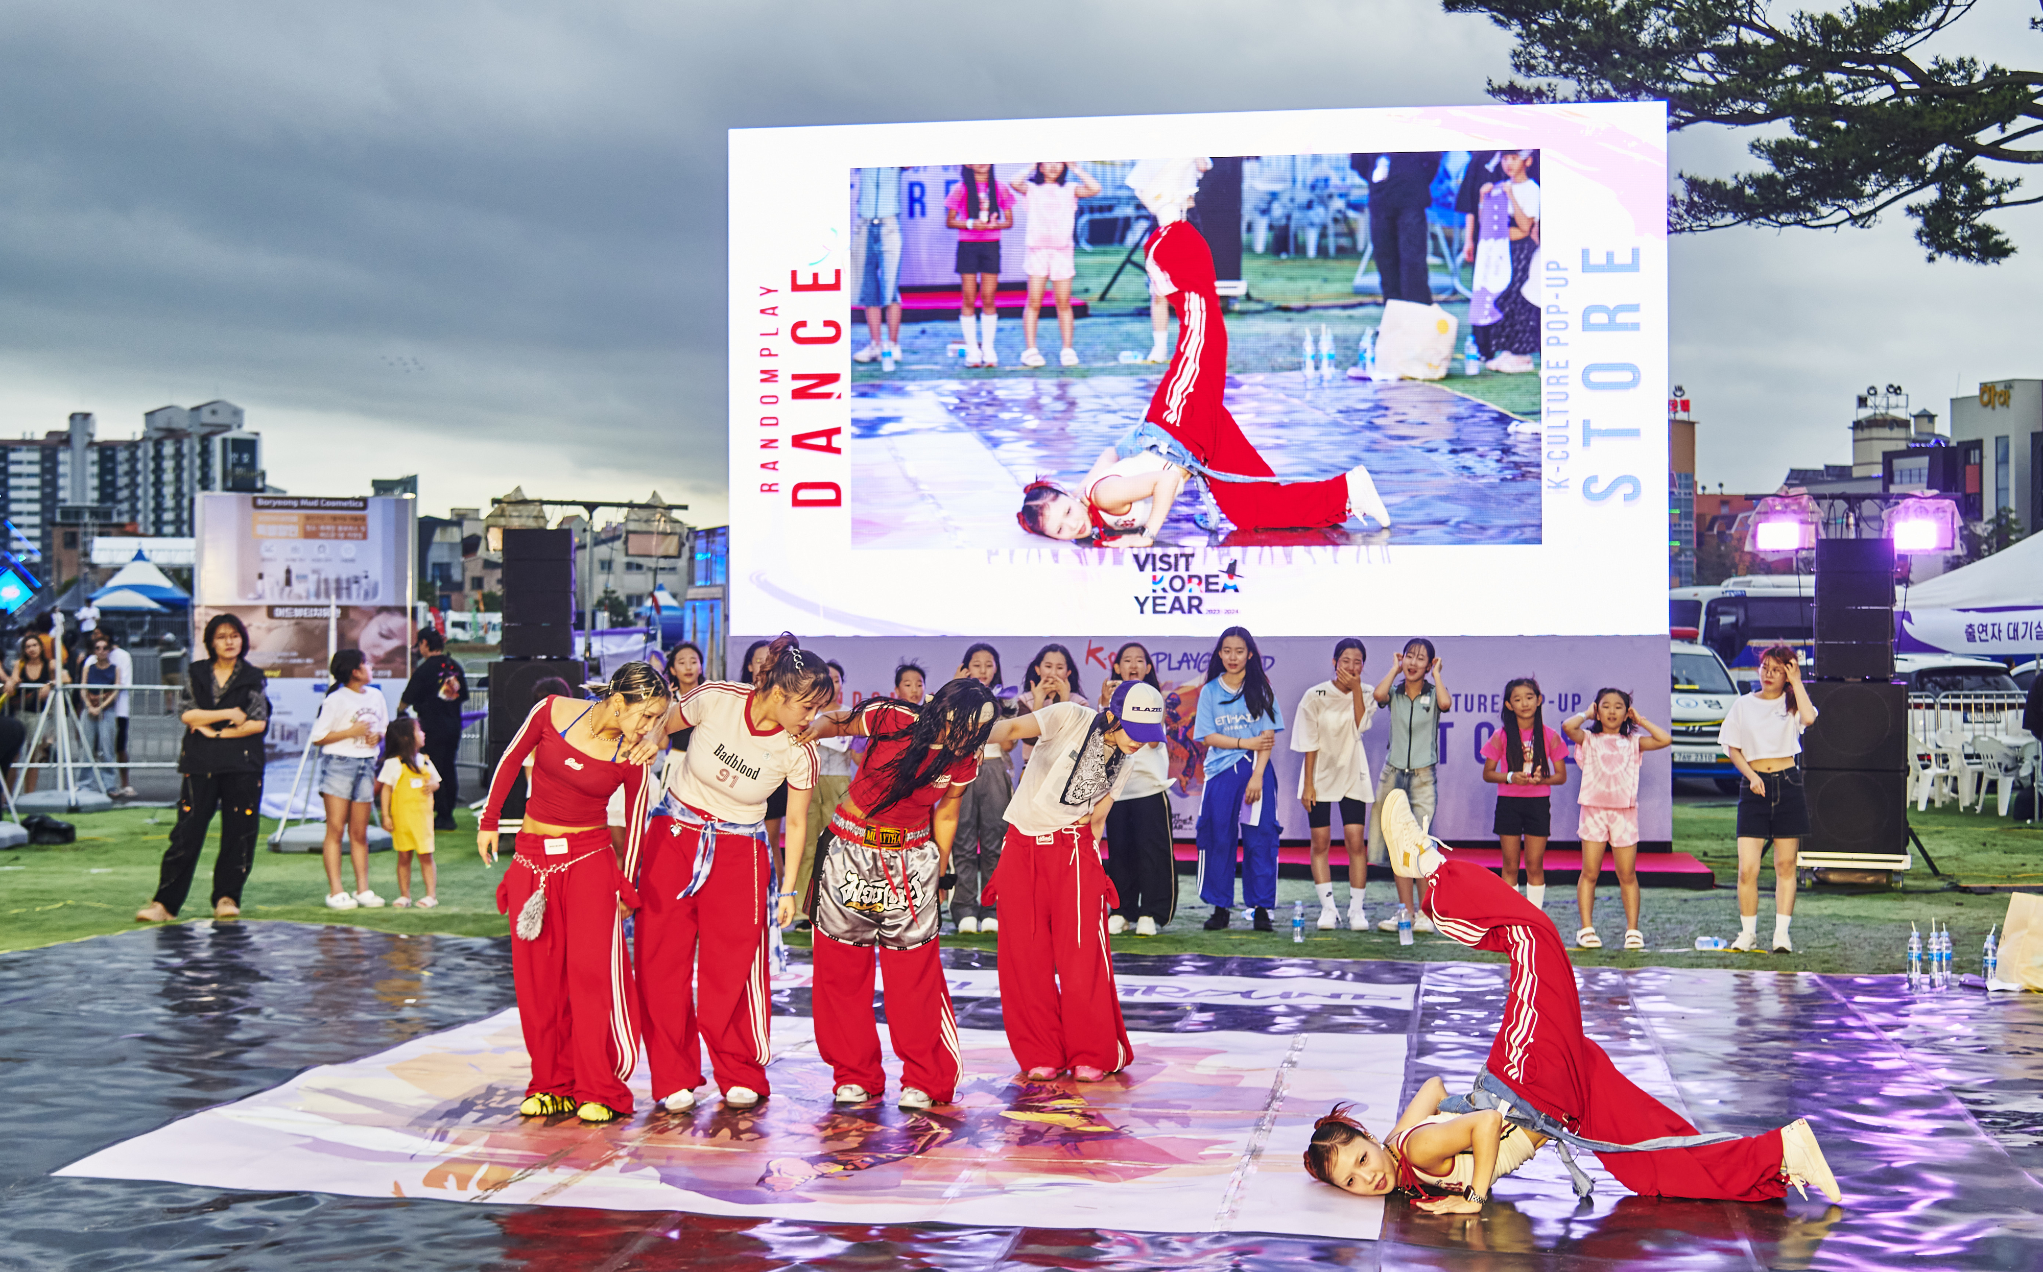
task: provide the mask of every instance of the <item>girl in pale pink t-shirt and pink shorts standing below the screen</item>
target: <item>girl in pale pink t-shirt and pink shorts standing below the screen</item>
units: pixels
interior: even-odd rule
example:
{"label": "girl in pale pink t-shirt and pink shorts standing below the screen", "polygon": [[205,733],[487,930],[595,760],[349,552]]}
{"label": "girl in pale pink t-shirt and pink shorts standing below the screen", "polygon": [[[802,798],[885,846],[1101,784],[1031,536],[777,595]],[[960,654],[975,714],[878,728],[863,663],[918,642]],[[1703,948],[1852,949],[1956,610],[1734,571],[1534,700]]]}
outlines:
{"label": "girl in pale pink t-shirt and pink shorts standing below the screen", "polygon": [[[1594,717],[1594,721],[1591,721]],[[1583,721],[1589,721],[1583,725]],[[1638,768],[1647,751],[1673,745],[1659,725],[1632,706],[1622,688],[1596,690],[1596,706],[1561,721],[1567,739],[1575,743],[1575,768],[1581,770],[1581,878],[1575,880],[1575,904],[1581,907],[1581,931],[1575,943],[1602,949],[1596,935],[1596,876],[1604,870],[1604,847],[1618,862],[1618,892],[1624,896],[1624,947],[1645,949],[1638,931]],[[1641,729],[1645,735],[1634,733]]]}

